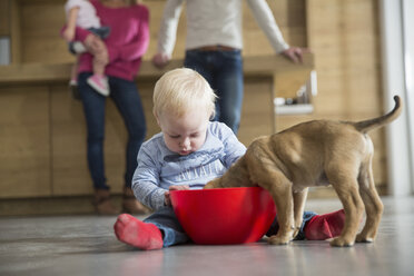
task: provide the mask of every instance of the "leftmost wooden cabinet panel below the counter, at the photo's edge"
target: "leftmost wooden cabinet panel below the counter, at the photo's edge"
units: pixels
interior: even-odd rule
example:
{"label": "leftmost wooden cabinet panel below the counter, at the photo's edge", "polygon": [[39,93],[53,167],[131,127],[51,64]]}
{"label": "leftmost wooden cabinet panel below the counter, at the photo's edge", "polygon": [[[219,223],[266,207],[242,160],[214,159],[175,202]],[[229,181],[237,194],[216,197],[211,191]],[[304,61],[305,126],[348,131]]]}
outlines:
{"label": "leftmost wooden cabinet panel below the counter, at the photo's edge", "polygon": [[0,198],[51,195],[49,93],[0,87]]}

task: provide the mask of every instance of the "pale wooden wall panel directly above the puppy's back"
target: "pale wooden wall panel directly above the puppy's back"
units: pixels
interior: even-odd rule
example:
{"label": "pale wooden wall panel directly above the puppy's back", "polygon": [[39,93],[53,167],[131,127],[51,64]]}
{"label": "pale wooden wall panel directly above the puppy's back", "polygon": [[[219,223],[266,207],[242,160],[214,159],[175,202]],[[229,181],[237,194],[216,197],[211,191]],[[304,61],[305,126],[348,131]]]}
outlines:
{"label": "pale wooden wall panel directly above the puppy's back", "polygon": [[308,0],[307,6],[309,46],[318,73],[317,112],[381,114],[376,1]]}

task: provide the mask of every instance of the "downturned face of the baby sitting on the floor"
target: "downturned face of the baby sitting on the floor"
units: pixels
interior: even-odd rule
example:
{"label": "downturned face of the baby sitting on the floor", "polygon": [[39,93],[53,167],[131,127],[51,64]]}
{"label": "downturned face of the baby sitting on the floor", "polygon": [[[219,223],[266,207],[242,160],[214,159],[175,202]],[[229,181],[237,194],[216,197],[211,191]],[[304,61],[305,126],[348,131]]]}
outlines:
{"label": "downturned face of the baby sitting on the floor", "polygon": [[160,116],[158,124],[167,148],[183,156],[198,150],[206,140],[208,119],[204,110],[190,110],[180,118]]}

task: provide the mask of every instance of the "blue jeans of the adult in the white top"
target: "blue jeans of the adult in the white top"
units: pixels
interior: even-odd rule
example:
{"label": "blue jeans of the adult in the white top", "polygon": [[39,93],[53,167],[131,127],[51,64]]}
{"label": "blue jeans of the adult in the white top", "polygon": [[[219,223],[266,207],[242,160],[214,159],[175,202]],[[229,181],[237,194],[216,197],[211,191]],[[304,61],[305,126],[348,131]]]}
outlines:
{"label": "blue jeans of the adult in the white top", "polygon": [[215,120],[237,134],[243,103],[243,59],[240,50],[187,50],[184,66],[198,71],[218,96]]}

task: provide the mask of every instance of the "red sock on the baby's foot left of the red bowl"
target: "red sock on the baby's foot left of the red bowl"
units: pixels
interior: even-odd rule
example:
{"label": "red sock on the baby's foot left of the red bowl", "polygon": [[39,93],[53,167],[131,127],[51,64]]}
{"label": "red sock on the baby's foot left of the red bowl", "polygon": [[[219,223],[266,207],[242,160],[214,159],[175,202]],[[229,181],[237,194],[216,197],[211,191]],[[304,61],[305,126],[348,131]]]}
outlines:
{"label": "red sock on the baby's foot left of the red bowl", "polygon": [[129,214],[118,216],[114,225],[117,238],[140,249],[162,248],[161,231],[154,224],[146,224]]}

